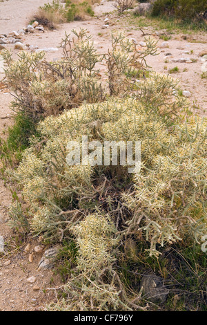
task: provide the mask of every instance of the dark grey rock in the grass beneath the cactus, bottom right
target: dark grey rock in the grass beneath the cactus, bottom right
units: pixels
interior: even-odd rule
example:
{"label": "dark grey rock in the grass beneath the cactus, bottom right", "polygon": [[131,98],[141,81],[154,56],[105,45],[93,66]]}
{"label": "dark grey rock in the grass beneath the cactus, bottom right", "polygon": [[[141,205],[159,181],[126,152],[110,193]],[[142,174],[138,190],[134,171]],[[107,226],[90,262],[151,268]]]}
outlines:
{"label": "dark grey rock in the grass beneath the cactus, bottom right", "polygon": [[163,279],[156,275],[145,275],[141,279],[141,288],[144,291],[143,297],[153,302],[164,302],[168,296]]}

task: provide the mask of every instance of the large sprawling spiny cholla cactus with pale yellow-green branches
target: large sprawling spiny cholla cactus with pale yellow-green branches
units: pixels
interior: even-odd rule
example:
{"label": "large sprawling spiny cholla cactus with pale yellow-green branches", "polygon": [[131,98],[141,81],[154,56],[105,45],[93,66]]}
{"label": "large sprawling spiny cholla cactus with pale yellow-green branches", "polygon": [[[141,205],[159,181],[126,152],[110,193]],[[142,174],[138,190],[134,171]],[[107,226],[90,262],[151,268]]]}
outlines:
{"label": "large sprawling spiny cholla cactus with pale yellow-green branches", "polygon": [[[156,41],[146,45],[137,50],[113,33],[112,50],[99,55],[86,30],[73,30],[57,62],[43,53],[3,54],[17,111],[1,142],[4,176],[21,192],[12,226],[66,245],[57,263],[70,263],[50,310],[147,310],[137,282],[152,270],[181,296],[166,310],[206,308],[207,120],[189,113],[170,76],[149,70]],[[97,68],[103,61],[105,83]],[[26,139],[19,147],[17,135]],[[89,142],[140,140],[139,174],[128,174],[127,163],[68,165],[68,141],[86,135]]]}

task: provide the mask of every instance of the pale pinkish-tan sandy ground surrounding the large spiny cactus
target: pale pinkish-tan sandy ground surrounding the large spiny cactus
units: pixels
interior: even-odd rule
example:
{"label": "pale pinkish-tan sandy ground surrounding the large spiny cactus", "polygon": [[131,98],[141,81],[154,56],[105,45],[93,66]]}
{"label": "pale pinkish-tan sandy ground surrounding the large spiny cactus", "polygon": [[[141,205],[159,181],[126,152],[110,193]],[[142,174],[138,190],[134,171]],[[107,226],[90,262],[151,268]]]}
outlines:
{"label": "pale pinkish-tan sandy ground surrounding the large spiny cactus", "polygon": [[[0,3],[0,34],[8,33],[12,30],[18,30],[27,26],[30,17],[43,3],[52,2],[46,0],[9,0]],[[110,48],[110,34],[112,30],[123,30],[128,37],[144,41],[143,32],[136,26],[128,23],[127,17],[119,17],[113,13],[114,7],[112,2],[103,2],[100,6],[95,6],[96,17],[87,21],[75,21],[70,24],[62,24],[58,30],[35,32],[27,34],[23,37],[23,44],[38,46],[39,48],[57,48],[64,37],[65,32],[69,33],[73,28],[86,28],[92,35],[95,47],[100,53],[106,53]],[[108,20],[108,28],[103,28],[106,24],[104,19]],[[157,35],[152,27],[143,28],[146,34],[153,35],[158,40],[158,46],[164,42]],[[163,32],[163,31],[159,31]],[[207,48],[207,38],[204,33],[197,35],[187,35],[187,39],[182,35],[172,35],[168,40],[167,48],[159,48],[160,54],[156,57],[148,59],[148,63],[155,71],[160,73],[168,73],[168,69],[177,66],[179,72],[173,77],[181,80],[181,87],[184,91],[190,91],[189,100],[191,105],[195,106],[195,111],[200,115],[207,115],[207,81],[201,79],[201,62],[199,53]],[[197,43],[199,39],[200,43]],[[140,46],[141,47],[141,46]],[[14,50],[11,44],[8,48],[12,48],[15,55],[18,51]],[[166,55],[169,54],[170,55]],[[46,57],[55,60],[61,57],[61,50],[55,53],[46,53]],[[189,57],[192,63],[172,62],[176,58]],[[101,66],[101,74],[104,78],[106,66]],[[0,80],[3,75],[0,74]],[[12,96],[7,89],[0,90],[0,136],[5,137],[6,129],[12,124],[9,108]],[[198,108],[196,110],[196,107]],[[12,194],[10,190],[4,186],[3,180],[0,180],[0,236],[3,236],[5,242],[8,242],[8,250],[11,254],[1,257],[0,255],[0,310],[39,310],[44,309],[46,304],[55,299],[53,290],[46,290],[49,287],[57,287],[60,284],[59,277],[55,277],[52,271],[39,272],[37,266],[43,252],[34,252],[34,247],[39,245],[37,240],[28,239],[31,243],[30,252],[25,252],[26,243],[21,244],[17,238],[17,234],[8,226],[8,208],[12,203]],[[27,242],[27,243],[28,243]],[[18,249],[17,249],[18,247]],[[46,248],[44,248],[46,249]],[[29,261],[29,254],[34,253],[32,263]],[[29,283],[28,278],[35,277],[34,283]]]}

